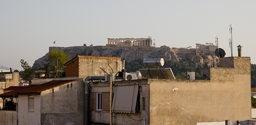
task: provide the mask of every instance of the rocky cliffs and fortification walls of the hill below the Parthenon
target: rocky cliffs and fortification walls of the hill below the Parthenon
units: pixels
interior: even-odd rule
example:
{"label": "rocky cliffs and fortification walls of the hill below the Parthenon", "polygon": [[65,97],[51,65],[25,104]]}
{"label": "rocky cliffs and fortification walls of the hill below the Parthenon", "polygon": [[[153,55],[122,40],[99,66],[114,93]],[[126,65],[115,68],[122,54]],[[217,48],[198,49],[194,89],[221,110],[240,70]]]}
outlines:
{"label": "rocky cliffs and fortification walls of the hill below the Parthenon", "polygon": [[[207,59],[207,55],[212,55],[213,63],[216,66],[218,62],[218,57],[214,54],[216,48],[217,47],[212,45],[212,43],[207,43],[206,45],[196,44],[195,49],[192,47],[170,48],[166,46],[119,46],[107,44],[106,46],[90,47],[49,47],[49,51],[52,49],[64,51],[68,53],[71,58],[76,57],[76,55],[118,56],[128,62],[134,61],[135,59],[163,58],[165,61],[173,60],[175,63],[178,63],[184,58],[190,58],[192,61],[196,61],[197,64],[201,64],[200,59],[202,59],[204,52],[204,59]],[[48,55],[48,53],[46,55]],[[44,64],[44,57],[39,58],[35,63]],[[194,66],[192,65],[192,67],[196,67],[196,64]]]}

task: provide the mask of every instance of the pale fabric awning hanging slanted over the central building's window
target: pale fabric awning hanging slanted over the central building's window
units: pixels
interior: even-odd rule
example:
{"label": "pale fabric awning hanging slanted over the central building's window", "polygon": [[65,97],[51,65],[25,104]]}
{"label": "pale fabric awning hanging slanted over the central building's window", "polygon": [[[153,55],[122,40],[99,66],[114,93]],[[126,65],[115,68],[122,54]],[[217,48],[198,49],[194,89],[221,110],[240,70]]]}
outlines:
{"label": "pale fabric awning hanging slanted over the central building's window", "polygon": [[120,113],[135,113],[138,86],[117,86],[111,110]]}

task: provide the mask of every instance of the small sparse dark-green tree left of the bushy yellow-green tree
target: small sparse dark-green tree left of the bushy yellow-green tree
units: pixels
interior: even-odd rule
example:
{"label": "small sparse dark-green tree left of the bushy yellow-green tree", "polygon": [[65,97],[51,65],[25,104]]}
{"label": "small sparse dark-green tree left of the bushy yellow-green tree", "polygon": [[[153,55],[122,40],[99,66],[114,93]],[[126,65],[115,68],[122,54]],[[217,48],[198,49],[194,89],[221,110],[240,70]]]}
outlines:
{"label": "small sparse dark-green tree left of the bushy yellow-green tree", "polygon": [[29,66],[28,62],[21,59],[20,63],[21,63],[21,67],[23,67],[23,70],[24,70],[24,72],[22,73],[22,78],[23,79],[33,78],[34,71],[32,70],[32,67]]}

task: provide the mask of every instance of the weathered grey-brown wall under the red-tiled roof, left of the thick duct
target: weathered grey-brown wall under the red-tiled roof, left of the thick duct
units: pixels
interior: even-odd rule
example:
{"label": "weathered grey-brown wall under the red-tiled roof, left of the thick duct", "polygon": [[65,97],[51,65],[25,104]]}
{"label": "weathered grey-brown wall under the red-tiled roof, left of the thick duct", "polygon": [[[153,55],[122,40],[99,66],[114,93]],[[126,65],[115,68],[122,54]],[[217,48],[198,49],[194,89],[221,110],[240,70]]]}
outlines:
{"label": "weathered grey-brown wall under the red-tiled roof, left of the thick duct", "polygon": [[84,124],[83,79],[41,92],[41,125]]}

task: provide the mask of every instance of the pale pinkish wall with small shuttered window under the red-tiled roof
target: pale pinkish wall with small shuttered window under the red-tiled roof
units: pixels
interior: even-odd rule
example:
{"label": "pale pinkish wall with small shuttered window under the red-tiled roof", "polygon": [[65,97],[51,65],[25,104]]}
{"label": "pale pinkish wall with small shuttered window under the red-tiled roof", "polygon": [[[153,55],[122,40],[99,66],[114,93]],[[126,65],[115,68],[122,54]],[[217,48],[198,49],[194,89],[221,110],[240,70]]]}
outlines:
{"label": "pale pinkish wall with small shuttered window under the red-tiled roof", "polygon": [[35,96],[35,111],[28,111],[28,95],[18,96],[18,123],[19,125],[41,125],[41,95]]}

